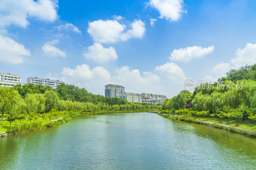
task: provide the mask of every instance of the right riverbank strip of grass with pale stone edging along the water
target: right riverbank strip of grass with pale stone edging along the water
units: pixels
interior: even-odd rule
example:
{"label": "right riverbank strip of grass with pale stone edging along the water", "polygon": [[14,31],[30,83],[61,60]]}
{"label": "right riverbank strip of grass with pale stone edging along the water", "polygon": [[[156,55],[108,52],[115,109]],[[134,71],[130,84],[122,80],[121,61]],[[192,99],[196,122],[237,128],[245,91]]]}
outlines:
{"label": "right riverbank strip of grass with pale stone edging along the water", "polygon": [[[240,133],[240,134],[244,134],[250,137],[254,137],[256,138],[256,128],[254,124],[250,124],[248,123],[249,126],[246,126],[245,124],[228,124],[228,122],[223,121],[218,122],[215,118],[207,118],[207,119],[203,119],[200,117],[192,117],[192,116],[169,116],[169,115],[165,115],[165,114],[160,114],[161,116],[164,116],[166,118],[169,119],[175,119],[175,120],[181,120],[184,122],[191,122],[191,123],[196,123],[196,124],[203,124],[203,125],[208,125],[208,126],[213,126],[216,128],[220,128],[220,129],[225,129],[228,131],[232,131],[232,132],[236,132],[236,133]],[[253,126],[254,125],[254,126]]]}

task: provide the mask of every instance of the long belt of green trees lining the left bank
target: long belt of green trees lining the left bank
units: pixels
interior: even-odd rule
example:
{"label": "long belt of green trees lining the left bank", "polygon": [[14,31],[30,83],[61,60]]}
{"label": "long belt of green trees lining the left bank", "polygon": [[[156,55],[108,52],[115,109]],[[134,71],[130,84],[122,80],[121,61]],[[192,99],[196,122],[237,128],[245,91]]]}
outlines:
{"label": "long belt of green trees lining the left bank", "polygon": [[161,109],[159,105],[130,103],[116,97],[93,95],[84,88],[79,89],[73,85],[61,84],[57,89],[49,86],[25,84],[14,87],[0,87],[0,112],[2,120],[6,114],[7,121],[11,123],[19,119],[28,121],[57,118],[75,111],[132,111],[132,110]]}

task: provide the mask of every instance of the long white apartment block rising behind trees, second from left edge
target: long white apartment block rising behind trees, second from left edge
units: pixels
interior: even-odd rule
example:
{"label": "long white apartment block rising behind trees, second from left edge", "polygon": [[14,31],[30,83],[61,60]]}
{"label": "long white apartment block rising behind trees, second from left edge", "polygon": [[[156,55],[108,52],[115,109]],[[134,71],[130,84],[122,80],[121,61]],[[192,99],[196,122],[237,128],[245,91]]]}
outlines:
{"label": "long white apartment block rising behind trees, second from left edge", "polygon": [[43,86],[51,86],[54,88],[64,82],[59,80],[40,79],[38,77],[28,77],[27,83],[42,84]]}

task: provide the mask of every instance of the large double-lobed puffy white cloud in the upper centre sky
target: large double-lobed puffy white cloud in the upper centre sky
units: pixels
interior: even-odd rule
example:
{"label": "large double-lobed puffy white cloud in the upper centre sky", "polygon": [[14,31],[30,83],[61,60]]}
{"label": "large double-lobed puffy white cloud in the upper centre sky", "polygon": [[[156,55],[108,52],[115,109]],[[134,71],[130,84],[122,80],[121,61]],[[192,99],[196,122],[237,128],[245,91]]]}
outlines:
{"label": "large double-lobed puffy white cloud in the upper centre sky", "polygon": [[116,20],[98,20],[89,22],[87,32],[94,42],[113,43],[119,40],[126,41],[131,38],[141,38],[145,33],[145,24],[141,20],[132,22],[132,29],[124,32],[126,26]]}

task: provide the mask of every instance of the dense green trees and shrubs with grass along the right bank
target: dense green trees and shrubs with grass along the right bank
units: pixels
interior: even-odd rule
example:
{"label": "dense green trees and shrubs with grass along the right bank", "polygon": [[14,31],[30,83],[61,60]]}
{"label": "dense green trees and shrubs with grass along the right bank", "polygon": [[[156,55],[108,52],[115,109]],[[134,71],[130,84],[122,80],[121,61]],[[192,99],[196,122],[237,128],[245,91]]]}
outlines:
{"label": "dense green trees and shrubs with grass along the right bank", "polygon": [[[232,69],[225,74],[226,77],[211,86],[206,83],[196,87],[193,93],[183,90],[166,99],[161,113],[179,115],[175,119],[188,122],[228,125],[231,131],[256,136],[256,64]],[[220,84],[225,88],[220,88]]]}

